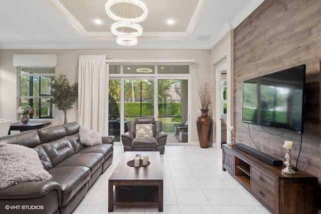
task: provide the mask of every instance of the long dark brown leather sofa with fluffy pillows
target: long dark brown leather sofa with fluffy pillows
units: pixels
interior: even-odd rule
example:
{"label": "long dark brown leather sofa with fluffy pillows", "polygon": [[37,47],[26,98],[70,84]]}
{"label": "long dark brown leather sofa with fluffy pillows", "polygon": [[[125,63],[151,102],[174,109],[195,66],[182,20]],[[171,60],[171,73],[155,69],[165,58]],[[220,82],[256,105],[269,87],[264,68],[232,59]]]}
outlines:
{"label": "long dark brown leather sofa with fluffy pillows", "polygon": [[[71,213],[77,207],[111,163],[114,142],[113,136],[102,137],[103,144],[86,147],[78,131],[77,123],[69,123],[0,138],[0,142],[34,148],[52,175],[49,181],[0,189],[0,213]],[[14,209],[6,209],[8,205],[15,205]]]}

